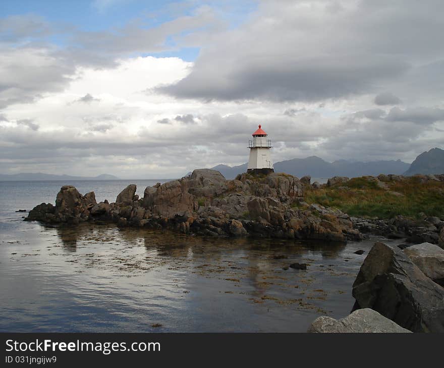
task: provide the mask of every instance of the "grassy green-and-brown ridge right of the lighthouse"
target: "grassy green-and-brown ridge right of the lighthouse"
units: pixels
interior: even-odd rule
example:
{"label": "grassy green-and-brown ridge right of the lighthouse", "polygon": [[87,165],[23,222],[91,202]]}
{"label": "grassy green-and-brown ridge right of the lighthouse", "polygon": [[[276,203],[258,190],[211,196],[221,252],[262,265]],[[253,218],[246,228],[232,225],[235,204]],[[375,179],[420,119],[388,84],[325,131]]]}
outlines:
{"label": "grassy green-and-brown ridge right of the lighthouse", "polygon": [[332,187],[309,189],[304,197],[309,204],[337,208],[356,217],[418,218],[423,212],[444,218],[444,182],[421,182],[421,177],[412,176],[385,185],[383,189],[374,178],[356,177]]}

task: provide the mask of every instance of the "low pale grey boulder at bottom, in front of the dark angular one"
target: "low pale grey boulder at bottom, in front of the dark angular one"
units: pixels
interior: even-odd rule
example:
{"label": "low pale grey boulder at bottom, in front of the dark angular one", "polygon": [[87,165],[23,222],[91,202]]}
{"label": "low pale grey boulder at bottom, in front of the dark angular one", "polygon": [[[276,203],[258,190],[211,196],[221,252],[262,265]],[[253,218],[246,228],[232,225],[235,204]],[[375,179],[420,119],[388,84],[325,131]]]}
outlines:
{"label": "low pale grey boulder at bottom, in front of the dark angular one", "polygon": [[395,322],[381,316],[370,308],[357,310],[340,320],[321,316],[316,318],[307,332],[327,332],[327,333],[346,333],[346,332],[404,332],[411,331],[397,325]]}

